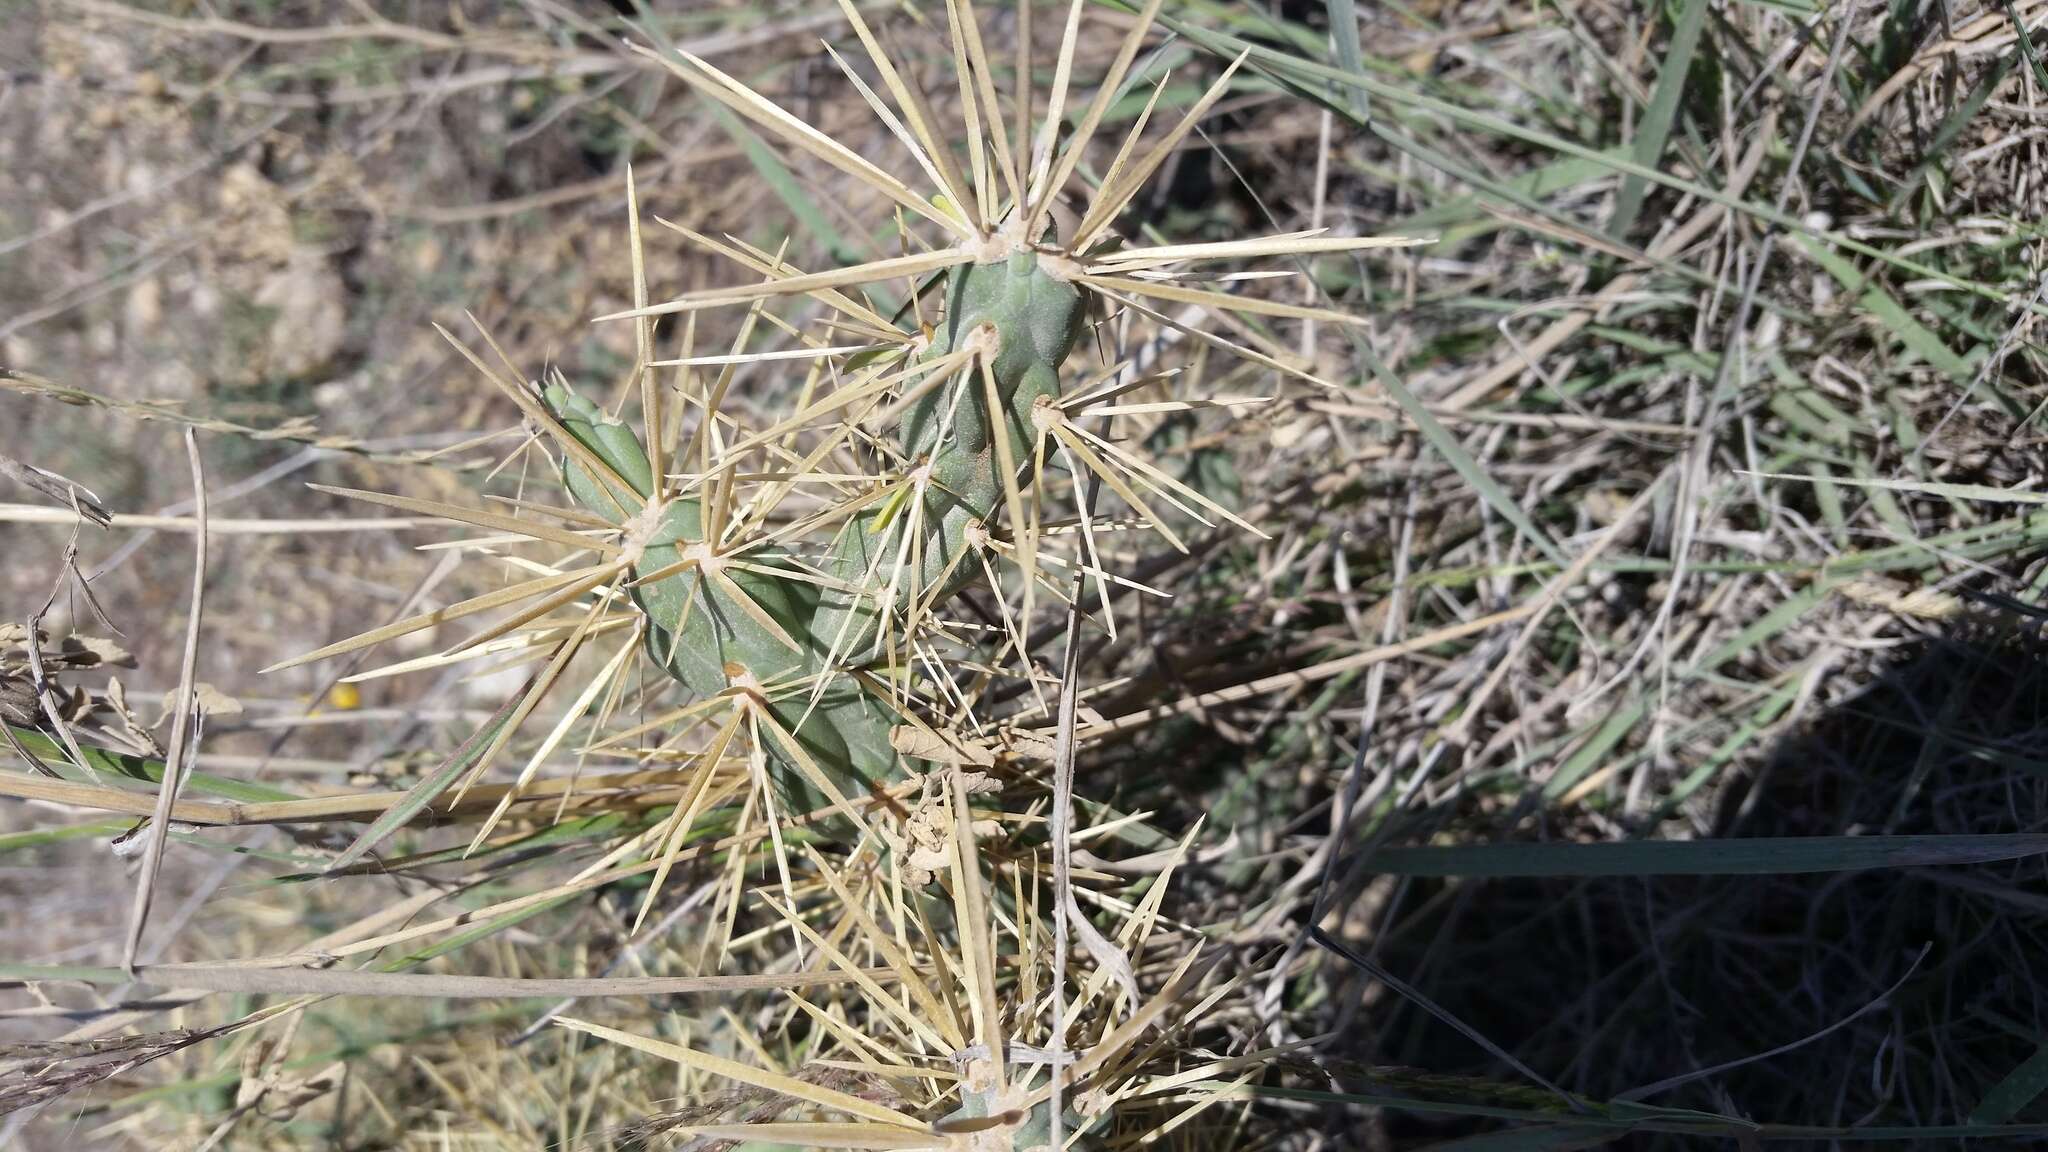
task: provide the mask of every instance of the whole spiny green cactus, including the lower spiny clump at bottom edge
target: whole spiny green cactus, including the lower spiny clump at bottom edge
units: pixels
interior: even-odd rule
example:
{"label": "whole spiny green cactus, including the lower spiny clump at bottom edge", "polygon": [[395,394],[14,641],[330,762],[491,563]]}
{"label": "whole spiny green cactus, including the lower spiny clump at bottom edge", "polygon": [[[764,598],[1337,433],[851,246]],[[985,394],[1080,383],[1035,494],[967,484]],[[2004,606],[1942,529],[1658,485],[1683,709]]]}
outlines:
{"label": "whole spiny green cactus, including the lower spiny clump at bottom edge", "polygon": [[[692,822],[723,797],[748,795],[743,812],[756,812],[758,801],[774,836],[784,900],[778,910],[801,937],[809,929],[795,910],[782,828],[795,814],[823,814],[838,822],[838,834],[852,845],[854,859],[864,861],[862,875],[870,883],[893,879],[897,886],[889,900],[881,900],[897,916],[893,927],[885,927],[870,920],[868,912],[856,912],[879,900],[872,892],[856,898],[844,888],[852,879],[827,879],[848,916],[862,924],[868,947],[889,955],[905,982],[922,980],[915,974],[928,968],[893,943],[905,933],[903,890],[920,890],[934,875],[948,879],[954,914],[940,922],[952,924],[956,937],[950,945],[930,939],[928,947],[934,953],[958,953],[961,959],[938,963],[936,972],[942,980],[958,978],[965,984],[961,994],[973,1006],[973,1027],[963,1027],[956,1019],[950,1025],[936,1019],[913,1023],[901,1019],[907,1013],[903,1002],[870,994],[874,1013],[897,1021],[891,1027],[913,1039],[922,1056],[950,1054],[965,1060],[958,1091],[948,1086],[950,1080],[934,1082],[928,1107],[920,1107],[918,1115],[879,1107],[862,1111],[848,1099],[811,1095],[825,1109],[852,1111],[872,1123],[862,1132],[811,1121],[793,1121],[784,1125],[786,1132],[774,1125],[758,1125],[752,1134],[721,1127],[700,1132],[758,1140],[778,1134],[823,1140],[836,1134],[856,1140],[842,1146],[860,1148],[944,1146],[993,1152],[1042,1146],[1057,1134],[1065,1140],[1100,1123],[1100,1109],[1096,1115],[1075,1113],[1069,1123],[1067,1103],[1059,1101],[1063,1093],[1079,1095],[1085,1086],[1092,1101],[1108,1107],[1104,1101],[1114,1099],[1114,1093],[1106,1091],[1104,1062],[1112,1062],[1122,1078],[1139,1076],[1145,1060],[1130,1056],[1143,1052],[1135,1047],[1139,1033],[1112,1029],[1106,1000],[1094,1000],[1108,980],[1098,974],[1090,994],[1065,1009],[1079,1015],[1079,1009],[1096,1002],[1096,1017],[1073,1033],[1096,1037],[1098,1047],[1087,1060],[1061,1076],[1049,1076],[1044,1066],[1006,1060],[1008,1045],[1018,1043],[1022,1033],[1038,1033],[1055,1054],[1073,1039],[1067,1025],[1075,1023],[1075,1015],[1059,1027],[1044,1021],[1049,998],[1063,1000],[1059,980],[1067,957],[1051,947],[1036,912],[1026,916],[1020,908],[1010,908],[1016,955],[1028,957],[1030,972],[1051,968],[1053,982],[1047,990],[1047,982],[1030,976],[1020,988],[1010,988],[1010,998],[997,990],[997,949],[989,927],[993,912],[983,894],[983,861],[973,849],[969,791],[958,773],[934,773],[932,765],[993,763],[997,742],[989,738],[979,701],[1004,660],[1022,660],[1028,687],[1040,689],[1040,676],[1028,668],[1028,631],[1040,592],[1073,599],[1085,588],[1100,605],[1104,625],[1114,631],[1114,617],[1108,615],[1110,586],[1135,584],[1110,570],[1104,549],[1108,533],[1143,527],[1165,543],[1184,547],[1176,521],[1229,521],[1257,531],[1120,443],[1106,420],[1249,404],[1260,398],[1171,398],[1159,387],[1171,373],[1143,375],[1118,355],[1104,357],[1104,363],[1087,371],[1073,371],[1069,361],[1077,346],[1114,348],[1114,332],[1147,326],[1161,336],[1196,340],[1268,371],[1315,381],[1276,342],[1237,316],[1354,324],[1352,316],[1196,287],[1190,281],[1202,279],[1198,266],[1206,260],[1354,252],[1411,240],[1290,234],[1176,246],[1139,244],[1118,232],[1124,207],[1227,90],[1243,57],[1178,123],[1147,139],[1151,113],[1165,86],[1161,80],[1102,168],[1100,180],[1094,180],[1092,193],[1077,203],[1067,201],[1069,187],[1081,182],[1083,158],[1104,113],[1130,76],[1159,0],[1147,4],[1130,25],[1094,96],[1069,107],[1071,66],[1083,25],[1083,4],[1075,0],[1067,10],[1061,55],[1038,127],[1022,127],[1030,117],[1020,111],[1016,133],[999,111],[997,70],[983,47],[973,4],[948,0],[946,29],[954,45],[963,127],[958,137],[940,131],[926,96],[881,51],[860,10],[848,0],[842,0],[842,8],[868,49],[883,92],[874,92],[846,61],[840,66],[911,156],[928,191],[913,189],[694,55],[670,47],[645,51],[770,137],[893,201],[899,219],[907,219],[903,232],[911,254],[805,273],[782,254],[678,228],[758,279],[741,287],[651,301],[641,258],[639,205],[629,180],[635,307],[600,320],[635,326],[639,433],[561,379],[545,389],[524,385],[463,348],[479,371],[518,402],[528,424],[555,445],[557,469],[575,510],[563,510],[559,523],[551,523],[535,512],[477,512],[358,494],[567,545],[592,560],[582,566],[547,566],[500,592],[365,633],[307,658],[530,601],[510,621],[485,629],[446,656],[506,650],[551,654],[526,695],[469,760],[471,771],[481,773],[539,699],[557,685],[578,648],[598,635],[625,633],[625,644],[606,660],[604,672],[586,685],[567,717],[528,758],[518,783],[506,793],[506,804],[547,754],[561,746],[578,715],[600,699],[610,707],[608,701],[625,683],[631,652],[645,650],[696,697],[600,744],[616,748],[662,732],[662,746],[643,754],[649,760],[666,756],[664,763],[682,763],[692,773],[682,801],[666,822],[635,840],[649,855],[662,857],[653,890],[659,890],[668,859],[688,836]],[[1018,76],[1024,90],[1016,92],[1016,107],[1030,109],[1028,70]],[[1063,236],[1053,228],[1055,205],[1069,211],[1065,219],[1071,225]],[[901,279],[918,287],[897,314],[877,307],[860,291]],[[770,318],[764,305],[786,297],[807,297],[827,320],[817,328],[799,328]],[[653,357],[657,316],[711,307],[750,310],[731,353],[698,355],[690,346],[694,324],[686,322],[684,353],[666,361]],[[1229,334],[1202,328],[1202,316],[1225,320]],[[748,353],[764,318],[786,332],[795,346]],[[1087,338],[1092,326],[1096,338]],[[748,426],[743,414],[727,404],[733,371],[741,363],[803,371],[797,408],[766,426]],[[662,369],[676,369],[674,385],[664,383]],[[1141,396],[1143,389],[1153,396]],[[696,416],[688,439],[682,437],[684,410],[694,410]],[[1126,506],[1126,519],[1112,521],[1094,508],[1090,492],[1098,486]],[[799,492],[805,498],[793,500]],[[813,498],[817,492],[825,496]],[[940,611],[948,596],[971,582],[981,582],[995,594],[1001,627],[993,640],[987,640],[987,631],[963,631]],[[567,621],[555,617],[571,607],[580,607],[580,613]],[[971,652],[971,660],[948,662],[948,652]],[[1042,697],[1038,699],[1042,713]],[[696,734],[696,744],[680,752],[686,734]],[[743,750],[745,760],[737,773],[729,771],[729,754],[735,750]],[[932,787],[940,779],[946,781],[940,785],[946,797],[940,806],[946,820],[940,824],[950,832],[920,840],[915,828],[897,832],[881,826],[874,830],[889,851],[879,851],[877,838],[866,834],[870,820],[887,824],[895,818],[877,816],[881,806],[870,806],[868,799],[891,793],[909,801],[924,789],[928,804],[920,806],[920,814],[930,816]],[[743,814],[741,820],[745,818]],[[915,818],[907,824],[915,824]],[[489,826],[485,822],[477,842],[487,836]],[[811,859],[809,865],[819,875],[831,875],[821,859]],[[852,875],[854,865],[846,867]],[[1020,869],[1008,888],[995,883],[991,890],[1001,900],[1016,902],[1024,890],[1022,875]],[[1036,875],[1028,883],[1036,890]],[[645,908],[643,904],[643,916]],[[1063,914],[1069,908],[1071,896],[1061,906]],[[1151,916],[1145,916],[1145,924],[1153,922]],[[915,922],[924,924],[924,918],[918,916]],[[1135,924],[1139,920],[1130,920]],[[1092,931],[1085,922],[1079,929]],[[1128,939],[1118,943],[1128,945]],[[803,939],[799,947],[805,947]],[[825,945],[811,939],[809,947]],[[827,953],[836,963],[844,961],[842,953]],[[1188,963],[1182,961],[1171,994],[1161,992],[1165,1006],[1153,1004],[1157,1013],[1165,1013],[1186,992],[1180,984],[1186,974]],[[1135,982],[1128,972],[1120,976],[1116,984],[1124,1009],[1139,1009]],[[958,1000],[954,992],[942,996],[926,988],[913,1002],[915,1015],[924,1017]],[[1059,1019],[1059,1011],[1053,1009],[1053,1019]],[[668,1056],[684,1052],[668,1052],[674,1045],[655,1047]],[[967,1050],[979,1056],[963,1056]],[[688,1062],[684,1056],[676,1058]],[[713,1072],[739,1074],[723,1064]],[[1094,1080],[1087,1080],[1090,1072],[1096,1074]],[[788,1088],[782,1080],[776,1091]],[[1069,1103],[1073,1099],[1065,1097]]]}

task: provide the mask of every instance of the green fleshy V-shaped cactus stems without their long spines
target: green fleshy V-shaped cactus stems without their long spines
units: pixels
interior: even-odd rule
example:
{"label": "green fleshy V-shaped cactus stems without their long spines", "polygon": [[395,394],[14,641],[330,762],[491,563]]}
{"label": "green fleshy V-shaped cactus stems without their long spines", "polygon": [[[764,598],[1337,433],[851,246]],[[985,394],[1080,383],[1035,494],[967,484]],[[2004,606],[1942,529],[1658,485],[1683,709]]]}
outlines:
{"label": "green fleshy V-shaped cactus stems without their long spines", "polygon": [[[698,560],[696,568],[631,588],[649,621],[653,660],[705,697],[770,689],[764,693],[768,711],[846,799],[858,801],[870,787],[901,779],[899,754],[889,742],[895,707],[852,672],[877,660],[885,601],[893,611],[905,609],[911,596],[936,603],[981,570],[969,556],[977,547],[973,527],[985,525],[1004,500],[993,437],[1008,439],[1008,459],[1028,463],[1032,408],[1059,396],[1059,365],[1073,351],[1081,322],[1081,295],[1051,275],[1034,252],[963,264],[948,275],[944,330],[926,359],[952,355],[975,332],[987,332],[981,338],[993,338],[991,375],[1001,410],[989,412],[979,371],[952,373],[905,408],[899,449],[909,467],[926,469],[922,500],[864,508],[842,525],[815,564],[829,580],[860,592],[795,576],[797,560],[786,551],[748,551],[748,568],[721,564],[719,541],[702,539],[696,498],[666,500],[655,523],[645,523],[653,474],[639,437],[569,387],[547,387],[545,402],[563,428],[616,474],[616,480],[594,478],[565,455],[563,486],[582,508],[637,537],[635,576]],[[903,531],[920,533],[907,553],[915,564],[895,574]],[[705,576],[707,562],[721,580]],[[793,574],[784,578],[776,570]],[[735,588],[750,605],[733,599]],[[821,695],[819,678],[827,683]],[[791,687],[776,691],[778,685]],[[786,810],[829,806],[793,756],[774,740],[764,744]]]}

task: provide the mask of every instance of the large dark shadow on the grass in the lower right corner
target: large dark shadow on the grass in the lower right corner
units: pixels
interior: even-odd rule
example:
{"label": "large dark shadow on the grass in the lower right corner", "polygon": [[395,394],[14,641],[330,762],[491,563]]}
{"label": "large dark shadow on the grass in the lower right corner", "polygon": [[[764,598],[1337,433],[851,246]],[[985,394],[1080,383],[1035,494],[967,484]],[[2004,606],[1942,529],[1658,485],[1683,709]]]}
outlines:
{"label": "large dark shadow on the grass in the lower right corner", "polygon": [[[1978,613],[1905,650],[1868,689],[1786,736],[1747,787],[1729,789],[1716,834],[2048,826],[2042,623]],[[2042,859],[1835,875],[1417,881],[1380,922],[1395,924],[1378,953],[1389,972],[1593,1099],[1817,1037],[1651,1103],[1808,1125],[1962,1123],[2048,1041]],[[1348,1056],[1518,1082],[1401,996],[1378,988],[1368,1004],[1364,1027],[1346,1033]],[[2048,1103],[2025,1103],[2011,1119],[2048,1119]],[[1370,1144],[1423,1148],[1475,1132],[1470,1123],[1389,1117]],[[1614,1146],[1733,1144],[1632,1136]]]}

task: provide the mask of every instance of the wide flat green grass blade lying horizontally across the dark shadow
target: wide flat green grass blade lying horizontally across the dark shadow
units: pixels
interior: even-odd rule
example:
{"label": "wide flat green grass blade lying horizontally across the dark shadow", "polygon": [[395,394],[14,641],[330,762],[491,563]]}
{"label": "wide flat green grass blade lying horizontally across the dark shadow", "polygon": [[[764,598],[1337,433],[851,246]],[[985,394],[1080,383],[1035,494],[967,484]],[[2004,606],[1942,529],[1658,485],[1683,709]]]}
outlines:
{"label": "wide flat green grass blade lying horizontally across the dark shadow", "polygon": [[1790,875],[1935,867],[2048,855],[2048,834],[1757,836],[1739,840],[1620,840],[1587,845],[1456,845],[1382,849],[1393,875]]}

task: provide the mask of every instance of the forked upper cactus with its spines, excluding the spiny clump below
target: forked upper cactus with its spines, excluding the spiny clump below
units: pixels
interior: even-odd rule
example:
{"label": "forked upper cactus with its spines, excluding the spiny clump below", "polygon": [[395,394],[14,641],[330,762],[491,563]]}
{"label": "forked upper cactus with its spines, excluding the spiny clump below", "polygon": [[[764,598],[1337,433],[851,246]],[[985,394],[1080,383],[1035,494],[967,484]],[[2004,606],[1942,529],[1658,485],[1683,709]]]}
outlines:
{"label": "forked upper cactus with its spines, excluding the spiny clump below", "polygon": [[[946,596],[971,580],[997,584],[997,562],[1014,566],[1020,580],[997,590],[1014,592],[1016,601],[1014,607],[1006,603],[1010,635],[1004,650],[1022,654],[1028,650],[1026,629],[1040,588],[1063,592],[1051,582],[1047,568],[1067,570],[1092,584],[1104,613],[1110,584],[1130,584],[1102,560],[1100,537],[1112,525],[1092,515],[1081,500],[1081,484],[1063,484],[1075,502],[1073,519],[1063,527],[1069,537],[1075,535],[1071,529],[1079,529],[1079,556],[1057,556],[1042,547],[1053,474],[1100,480],[1139,525],[1174,547],[1184,545],[1167,521],[1169,512],[1200,523],[1231,521],[1257,531],[1116,443],[1100,422],[1262,398],[1124,404],[1122,398],[1161,383],[1165,375],[1139,375],[1114,359],[1090,373],[1065,373],[1069,353],[1092,314],[1098,320],[1114,314],[1227,348],[1276,373],[1315,381],[1249,326],[1233,322],[1233,336],[1227,338],[1194,326],[1190,318],[1204,312],[1331,324],[1356,324],[1356,318],[1182,281],[1198,277],[1192,269],[1208,260],[1356,252],[1417,240],[1288,234],[1143,246],[1116,232],[1122,209],[1227,90],[1243,57],[1165,135],[1147,143],[1145,127],[1165,88],[1161,78],[1094,197],[1077,205],[1077,228],[1059,238],[1051,228],[1053,207],[1075,182],[1081,158],[1120,92],[1159,2],[1151,2],[1124,35],[1100,88],[1067,131],[1069,74],[1081,29],[1081,4],[1073,4],[1047,111],[1028,150],[1030,164],[1024,162],[1024,141],[1012,141],[997,115],[995,70],[981,45],[971,4],[946,6],[956,45],[963,141],[938,135],[932,109],[879,49],[858,8],[846,0],[842,6],[868,47],[883,86],[895,96],[895,107],[850,68],[848,78],[932,180],[930,195],[913,191],[711,64],[676,49],[643,51],[791,148],[883,193],[936,232],[936,242],[926,244],[920,236],[918,242],[928,250],[911,256],[801,273],[778,254],[678,228],[762,279],[647,303],[647,285],[637,269],[641,303],[600,322],[633,322],[639,328],[643,435],[604,414],[567,383],[526,387],[471,355],[559,447],[563,484],[586,517],[578,527],[588,525],[596,533],[537,531],[530,517],[477,517],[418,500],[356,496],[524,531],[535,539],[575,543],[600,551],[602,560],[588,568],[553,570],[504,592],[416,617],[301,660],[428,627],[451,615],[506,607],[522,596],[537,599],[539,611],[528,609],[512,625],[485,631],[485,640],[500,640],[541,615],[590,596],[588,627],[567,635],[573,650],[592,631],[618,623],[608,613],[616,605],[616,592],[627,590],[655,662],[705,701],[731,703],[735,719],[717,736],[721,748],[745,730],[766,748],[784,806],[805,812],[831,806],[852,814],[852,806],[874,789],[911,775],[905,756],[915,760],[938,752],[940,758],[958,758],[944,750],[956,750],[958,734],[948,730],[954,726],[946,713],[958,713],[961,701],[938,701],[934,707],[918,703],[920,683],[930,681],[920,672],[920,662],[936,666],[928,660],[928,644],[942,631],[934,609]],[[846,68],[844,59],[840,64]],[[637,254],[637,201],[633,215]],[[915,236],[915,228],[907,228]],[[903,277],[942,277],[936,324],[903,328],[848,291]],[[936,283],[926,279],[920,293]],[[651,359],[655,316],[752,305],[756,316],[750,316],[741,332],[743,342],[756,328],[764,301],[797,295],[829,314],[829,332],[795,332],[801,346],[791,353]],[[913,305],[922,320],[922,295]],[[1174,314],[1163,312],[1167,307]],[[860,342],[844,344],[846,336]],[[745,361],[809,361],[807,404],[766,428],[727,428],[725,387],[731,367]],[[680,377],[684,383],[678,392],[702,416],[688,445],[672,443],[672,400],[664,400],[657,369],[709,365],[721,365],[721,371],[711,377]],[[838,387],[817,396],[813,385],[823,379],[838,381]],[[813,441],[805,443],[805,437]],[[829,471],[831,461],[854,461],[864,471]],[[803,484],[829,484],[840,498],[795,525],[770,525]],[[1114,633],[1114,617],[1106,625]],[[477,642],[469,648],[475,650]],[[553,685],[561,660],[537,678],[514,722],[524,719]],[[944,707],[948,703],[954,707]],[[698,707],[692,715],[705,719],[709,711],[715,709]],[[498,746],[512,728],[516,724],[498,734]]]}

